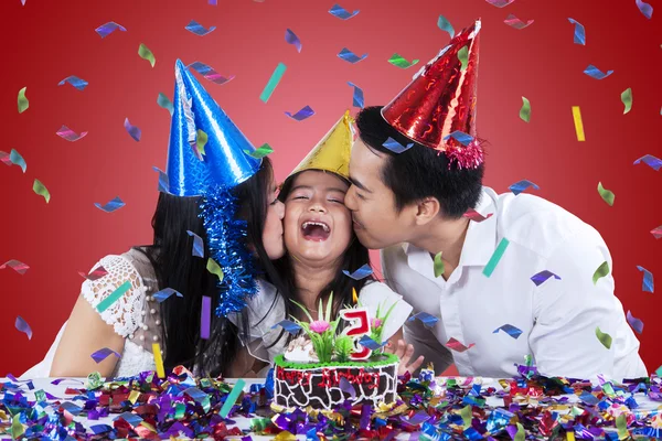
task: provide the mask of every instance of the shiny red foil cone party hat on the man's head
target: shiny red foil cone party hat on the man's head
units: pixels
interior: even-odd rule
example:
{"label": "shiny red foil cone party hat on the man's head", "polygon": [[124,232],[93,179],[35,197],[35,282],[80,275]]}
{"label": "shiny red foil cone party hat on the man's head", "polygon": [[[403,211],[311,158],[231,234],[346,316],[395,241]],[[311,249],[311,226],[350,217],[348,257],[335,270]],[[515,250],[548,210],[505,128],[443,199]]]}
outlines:
{"label": "shiny red foil cone party hat on the man's head", "polygon": [[483,162],[483,152],[476,139],[479,32],[480,20],[459,32],[382,109],[384,119],[397,131],[423,146],[444,151],[450,159],[449,166],[457,161],[460,169],[474,169]]}

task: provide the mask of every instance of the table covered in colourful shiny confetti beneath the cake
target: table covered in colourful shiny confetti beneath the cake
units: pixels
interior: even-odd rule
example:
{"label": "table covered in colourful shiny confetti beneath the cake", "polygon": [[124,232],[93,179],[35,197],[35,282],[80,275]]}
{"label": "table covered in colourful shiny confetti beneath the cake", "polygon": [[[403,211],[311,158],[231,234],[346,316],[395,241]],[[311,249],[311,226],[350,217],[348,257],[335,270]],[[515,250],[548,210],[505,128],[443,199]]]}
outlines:
{"label": "table covered in colourful shiny confetti beneath the cake", "polygon": [[[238,381],[238,385],[237,385]],[[638,439],[662,437],[658,377],[595,383],[404,378],[388,409],[274,413],[264,380],[145,373],[130,380],[0,379],[4,439]],[[239,386],[241,390],[238,387]],[[235,390],[236,389],[236,390]]]}

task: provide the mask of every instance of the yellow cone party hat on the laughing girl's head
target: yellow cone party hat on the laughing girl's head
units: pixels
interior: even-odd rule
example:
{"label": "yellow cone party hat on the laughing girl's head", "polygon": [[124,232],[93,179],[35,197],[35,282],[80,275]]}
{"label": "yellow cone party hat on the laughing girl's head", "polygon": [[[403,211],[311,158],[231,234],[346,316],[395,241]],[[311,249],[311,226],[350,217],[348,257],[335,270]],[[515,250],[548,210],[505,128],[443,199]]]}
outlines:
{"label": "yellow cone party hat on the laughing girl's head", "polygon": [[353,122],[350,111],[345,111],[289,175],[292,176],[306,170],[323,170],[349,180],[350,154],[352,142],[354,142]]}

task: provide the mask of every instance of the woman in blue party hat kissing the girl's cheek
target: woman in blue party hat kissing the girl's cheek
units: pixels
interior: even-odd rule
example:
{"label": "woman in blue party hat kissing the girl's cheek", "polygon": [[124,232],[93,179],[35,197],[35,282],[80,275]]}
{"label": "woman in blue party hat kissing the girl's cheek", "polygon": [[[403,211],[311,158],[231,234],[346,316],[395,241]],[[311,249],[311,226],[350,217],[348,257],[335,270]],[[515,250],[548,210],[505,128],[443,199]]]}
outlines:
{"label": "woman in blue party hat kissing the girl's cheek", "polygon": [[[152,218],[153,244],[107,256],[93,268],[107,275],[83,283],[45,359],[23,377],[81,377],[95,370],[134,376],[154,369],[153,343],[167,369],[184,365],[201,375],[243,376],[250,368],[237,329],[224,315],[239,310],[244,297],[258,288],[271,289],[265,280],[255,284],[259,270],[278,284],[270,259],[285,252],[282,204],[270,161],[244,153],[254,150],[250,142],[180,61],[175,77],[169,189],[160,193]],[[204,158],[193,150],[197,129],[209,136]],[[193,234],[203,243],[195,254]],[[221,267],[223,283],[207,270],[209,258]],[[167,288],[180,294],[159,303],[154,294]],[[206,338],[201,335],[203,297],[212,309]],[[104,347],[121,357],[96,364],[90,355]]]}

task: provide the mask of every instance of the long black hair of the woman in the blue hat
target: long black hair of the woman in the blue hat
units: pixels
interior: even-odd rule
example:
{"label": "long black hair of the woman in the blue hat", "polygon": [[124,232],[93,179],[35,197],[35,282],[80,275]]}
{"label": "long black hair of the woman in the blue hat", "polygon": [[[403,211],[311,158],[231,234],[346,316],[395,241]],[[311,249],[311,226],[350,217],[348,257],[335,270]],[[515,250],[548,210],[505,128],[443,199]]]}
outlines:
{"label": "long black hair of the woman in the blue hat", "polygon": [[[247,181],[237,185],[233,193],[239,208],[237,216],[247,222],[247,240],[256,255],[256,268],[265,279],[280,286],[267,251],[263,245],[263,229],[267,217],[267,189],[274,170],[268,158],[263,159],[259,170]],[[151,261],[159,288],[172,288],[183,298],[171,297],[160,304],[162,338],[166,346],[166,368],[184,365],[201,375],[226,375],[241,347],[239,331],[228,319],[212,312],[209,340],[200,338],[202,297],[212,299],[212,311],[218,305],[217,277],[206,270],[206,259],[193,257],[191,230],[205,243],[205,256],[210,255],[203,219],[200,217],[200,197],[179,197],[159,194],[152,217],[153,245],[142,250]],[[248,333],[246,313],[241,314],[242,337]]]}

